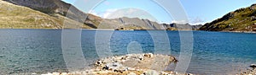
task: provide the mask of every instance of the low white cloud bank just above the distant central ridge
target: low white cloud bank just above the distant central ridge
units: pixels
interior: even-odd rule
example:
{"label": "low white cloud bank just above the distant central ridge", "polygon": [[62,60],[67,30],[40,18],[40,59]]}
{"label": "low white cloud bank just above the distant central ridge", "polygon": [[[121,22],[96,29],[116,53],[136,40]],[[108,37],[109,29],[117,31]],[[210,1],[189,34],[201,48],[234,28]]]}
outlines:
{"label": "low white cloud bank just above the distant central ridge", "polygon": [[[103,19],[118,19],[122,17],[129,17],[129,18],[139,18],[139,19],[149,19],[151,21],[159,22],[155,19],[150,13],[144,11],[139,8],[113,8],[107,9],[104,12],[96,12],[95,10],[90,10],[91,14],[96,16],[102,17]],[[201,17],[189,17],[189,22],[187,20],[172,20],[171,23],[176,24],[205,24],[205,19],[201,19]],[[160,22],[164,23],[164,22]],[[169,24],[169,23],[166,23]]]}

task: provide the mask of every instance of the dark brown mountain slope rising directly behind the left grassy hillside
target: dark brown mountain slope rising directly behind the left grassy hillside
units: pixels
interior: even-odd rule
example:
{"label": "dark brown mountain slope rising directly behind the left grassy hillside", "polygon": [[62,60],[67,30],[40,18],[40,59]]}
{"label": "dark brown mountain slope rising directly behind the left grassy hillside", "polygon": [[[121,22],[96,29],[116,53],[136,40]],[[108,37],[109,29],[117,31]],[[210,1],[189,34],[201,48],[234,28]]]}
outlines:
{"label": "dark brown mountain slope rising directly behind the left grassy hillside", "polygon": [[[40,11],[42,13],[47,13],[55,18],[65,18],[73,19],[79,23],[83,23],[83,28],[94,28],[96,29],[96,24],[99,24],[102,20],[100,17],[95,15],[84,13],[78,8],[75,8],[69,3],[62,2],[61,0],[3,0],[9,3],[14,3],[15,5],[24,6],[27,8],[32,8],[34,10]],[[67,16],[68,13],[68,16]],[[84,19],[86,18],[87,19]]]}

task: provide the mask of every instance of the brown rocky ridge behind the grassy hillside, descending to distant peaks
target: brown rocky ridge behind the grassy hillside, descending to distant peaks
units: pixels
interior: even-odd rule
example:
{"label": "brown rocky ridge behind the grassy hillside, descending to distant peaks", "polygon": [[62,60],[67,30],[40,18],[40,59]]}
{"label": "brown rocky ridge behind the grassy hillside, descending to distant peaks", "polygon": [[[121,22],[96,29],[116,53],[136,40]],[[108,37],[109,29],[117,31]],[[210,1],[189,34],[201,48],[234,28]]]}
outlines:
{"label": "brown rocky ridge behind the grassy hillside, descending to distant peaks", "polygon": [[[60,19],[64,22],[65,19],[73,20],[82,25],[83,29],[168,29],[172,27],[177,30],[177,26],[169,26],[171,24],[160,24],[148,19],[138,18],[119,18],[119,19],[102,19],[96,15],[90,13],[84,13],[78,8],[75,8],[72,4],[62,2],[61,0],[3,0],[15,5],[32,8],[33,10],[41,13],[48,14],[51,18]],[[86,19],[84,19],[86,18]],[[73,28],[69,25],[67,27],[61,26],[61,28]],[[69,23],[72,24],[72,23]],[[188,25],[188,24],[187,24]],[[183,25],[185,26],[185,25]],[[25,27],[26,28],[26,27]],[[189,29],[186,29],[189,30]]]}

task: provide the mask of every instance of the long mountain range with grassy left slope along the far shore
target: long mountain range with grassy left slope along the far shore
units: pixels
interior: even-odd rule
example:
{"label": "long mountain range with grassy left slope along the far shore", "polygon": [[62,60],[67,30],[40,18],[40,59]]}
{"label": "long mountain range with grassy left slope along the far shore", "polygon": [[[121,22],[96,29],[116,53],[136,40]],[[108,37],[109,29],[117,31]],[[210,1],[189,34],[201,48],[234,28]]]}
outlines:
{"label": "long mountain range with grassy left slope along the far shore", "polygon": [[[6,3],[8,2],[8,3]],[[73,24],[84,29],[169,29],[190,30],[190,24],[159,24],[148,19],[119,18],[102,19],[90,13],[84,13],[69,3],[61,0],[1,0],[3,3],[3,23],[0,28],[12,29],[61,29],[64,20],[72,29]],[[16,10],[9,10],[15,8]],[[18,16],[18,17],[16,17]],[[86,19],[84,19],[86,18]],[[67,22],[66,22],[67,21]],[[11,26],[11,27],[9,27]],[[170,29],[172,28],[172,29]],[[193,28],[195,29],[195,28]]]}

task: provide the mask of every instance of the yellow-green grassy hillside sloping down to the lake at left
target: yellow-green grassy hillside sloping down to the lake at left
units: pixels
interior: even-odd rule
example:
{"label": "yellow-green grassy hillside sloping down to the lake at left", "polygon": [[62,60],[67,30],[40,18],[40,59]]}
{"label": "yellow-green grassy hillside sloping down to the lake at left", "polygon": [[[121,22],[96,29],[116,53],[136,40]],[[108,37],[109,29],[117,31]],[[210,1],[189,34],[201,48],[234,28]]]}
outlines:
{"label": "yellow-green grassy hillside sloping down to the lake at left", "polygon": [[[61,29],[65,17],[52,17],[31,8],[17,6],[0,0],[1,29]],[[68,24],[77,24],[67,19]],[[84,26],[84,28],[90,28]]]}

